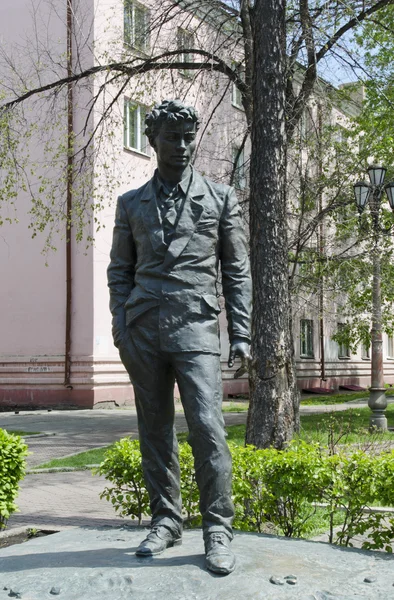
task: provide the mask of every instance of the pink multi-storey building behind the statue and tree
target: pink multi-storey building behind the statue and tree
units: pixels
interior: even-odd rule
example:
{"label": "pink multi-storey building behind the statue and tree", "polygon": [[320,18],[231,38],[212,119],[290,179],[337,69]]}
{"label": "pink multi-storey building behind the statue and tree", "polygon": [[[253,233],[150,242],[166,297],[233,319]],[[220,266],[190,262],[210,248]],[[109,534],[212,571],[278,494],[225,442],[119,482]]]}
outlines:
{"label": "pink multi-storey building behind the statue and tree", "polygon": [[[220,47],[229,61],[238,63],[242,58],[234,32],[226,29],[226,19],[217,31],[210,10],[191,13],[175,3],[175,11],[174,3],[150,0],[74,0],[64,10],[64,3],[52,0],[37,3],[32,19],[26,4],[26,0],[3,0],[0,35],[3,46],[11,48],[22,31],[27,40],[35,32],[39,42],[34,48],[25,47],[31,64],[22,61],[17,69],[19,74],[26,70],[30,86],[29,73],[34,80],[31,65],[39,72],[39,81],[48,82],[67,72],[108,63],[127,62],[132,70],[152,53],[165,56],[182,51],[180,62],[201,62],[201,57],[187,52],[191,48],[213,53]],[[166,17],[159,18],[163,14]],[[43,63],[44,42],[50,44],[50,65]],[[239,90],[206,65],[199,71],[161,69],[132,77],[121,70],[110,74],[98,70],[86,84],[65,86],[56,98],[50,97],[53,113],[43,117],[37,112],[43,110],[39,103],[29,105],[31,122],[42,127],[32,128],[24,156],[25,164],[34,163],[37,170],[30,173],[29,184],[18,189],[18,222],[5,221],[0,235],[0,410],[14,406],[93,408],[133,401],[127,373],[112,343],[106,268],[116,198],[142,185],[156,168],[144,134],[144,115],[154,102],[179,97],[198,108],[202,126],[195,166],[216,181],[234,185],[247,222],[250,143],[243,141],[246,122]],[[343,109],[337,112],[343,114]],[[52,142],[59,132],[61,148],[54,149]],[[87,140],[93,141],[88,145]],[[52,158],[48,166],[48,157],[54,154],[60,158]],[[70,179],[70,172],[78,177]],[[41,186],[46,195],[40,204]],[[51,202],[63,204],[66,198],[73,203],[74,217],[78,211],[84,214],[83,226],[73,217],[71,228],[66,219],[51,230],[49,218],[43,234],[32,237],[37,215],[50,214]],[[14,208],[4,210],[10,212],[12,221]],[[318,308],[311,303],[295,311],[300,387],[321,385],[323,380],[326,387],[368,384],[368,349],[350,355],[332,341],[332,324],[321,328],[321,322]],[[220,327],[225,394],[245,393],[247,380],[234,380],[227,368],[224,310]],[[386,339],[385,344],[387,380],[394,381],[393,339]]]}

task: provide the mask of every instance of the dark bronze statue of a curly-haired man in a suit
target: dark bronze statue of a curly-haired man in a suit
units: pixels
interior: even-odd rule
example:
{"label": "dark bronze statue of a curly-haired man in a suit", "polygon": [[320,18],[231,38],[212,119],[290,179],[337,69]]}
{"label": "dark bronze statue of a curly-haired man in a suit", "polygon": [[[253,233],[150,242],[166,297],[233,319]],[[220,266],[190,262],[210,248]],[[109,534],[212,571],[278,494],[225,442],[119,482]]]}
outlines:
{"label": "dark bronze statue of a curly-haired man in a suit", "polygon": [[251,280],[233,188],[190,165],[197,112],[164,101],[146,117],[158,169],[116,209],[108,268],[114,343],[134,386],[151,531],[137,556],[181,543],[182,501],[174,431],[178,384],[200,490],[207,568],[227,574],[235,557],[231,455],[221,413],[217,283],[230,336],[229,366],[249,358]]}

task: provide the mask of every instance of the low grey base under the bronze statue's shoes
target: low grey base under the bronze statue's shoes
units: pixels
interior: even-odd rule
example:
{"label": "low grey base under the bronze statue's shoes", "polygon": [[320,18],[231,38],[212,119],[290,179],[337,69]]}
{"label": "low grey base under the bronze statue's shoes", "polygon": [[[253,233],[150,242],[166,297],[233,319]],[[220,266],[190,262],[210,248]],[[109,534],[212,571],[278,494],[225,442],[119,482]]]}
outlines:
{"label": "low grey base under the bronze statue's shoes", "polygon": [[394,600],[394,556],[381,552],[239,533],[237,568],[220,577],[205,570],[201,531],[148,559],[134,556],[143,537],[78,528],[4,548],[0,600]]}

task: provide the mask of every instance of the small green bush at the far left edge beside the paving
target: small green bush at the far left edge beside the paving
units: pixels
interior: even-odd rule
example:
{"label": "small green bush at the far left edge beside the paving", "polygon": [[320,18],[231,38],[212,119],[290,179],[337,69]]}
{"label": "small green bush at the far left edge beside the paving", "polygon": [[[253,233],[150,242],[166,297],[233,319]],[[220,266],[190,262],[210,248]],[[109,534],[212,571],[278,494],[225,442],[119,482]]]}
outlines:
{"label": "small green bush at the far left edge beside the paving", "polygon": [[17,510],[15,498],[25,476],[27,446],[23,440],[0,429],[0,529]]}

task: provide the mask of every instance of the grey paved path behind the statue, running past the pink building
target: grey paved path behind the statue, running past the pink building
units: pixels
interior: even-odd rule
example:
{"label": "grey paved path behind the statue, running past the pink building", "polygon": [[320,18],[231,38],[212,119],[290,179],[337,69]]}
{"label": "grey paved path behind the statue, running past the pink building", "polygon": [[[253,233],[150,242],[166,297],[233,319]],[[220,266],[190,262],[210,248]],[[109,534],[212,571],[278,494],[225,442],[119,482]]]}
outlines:
{"label": "grey paved path behind the statue, running past the pink building", "polygon": [[[365,403],[303,406],[301,413],[363,406]],[[246,421],[246,412],[225,413],[224,417],[227,425],[241,424]],[[176,427],[178,431],[187,430],[181,412],[176,414]],[[0,428],[46,434],[26,438],[32,453],[28,458],[30,468],[51,458],[106,446],[126,435],[138,435],[136,413],[132,410],[0,413]],[[104,487],[104,479],[93,477],[90,471],[27,475],[17,499],[20,512],[12,515],[9,529],[28,526],[58,530],[71,526],[124,523],[123,519],[116,517],[106,500],[100,500],[99,494]]]}

